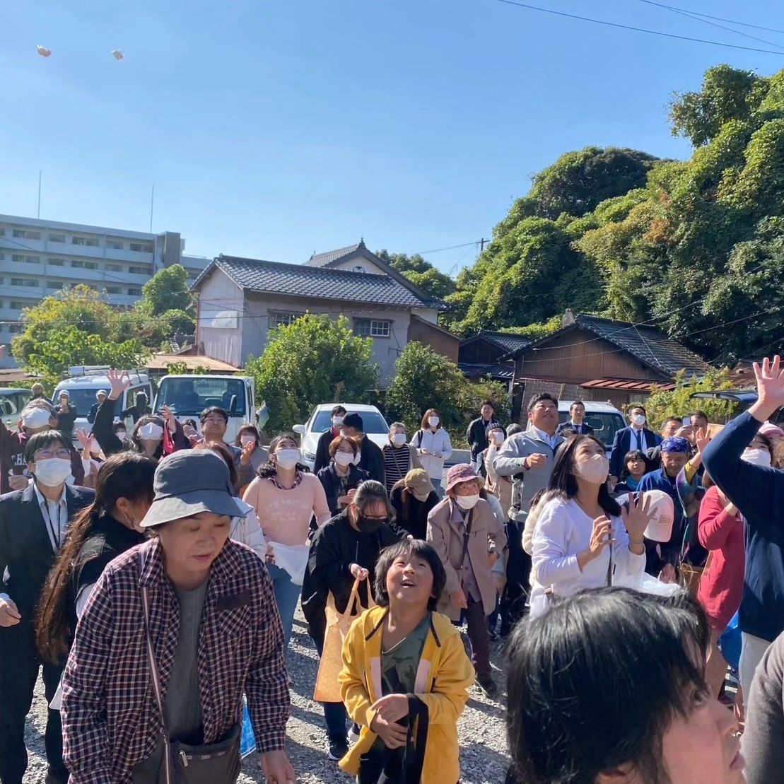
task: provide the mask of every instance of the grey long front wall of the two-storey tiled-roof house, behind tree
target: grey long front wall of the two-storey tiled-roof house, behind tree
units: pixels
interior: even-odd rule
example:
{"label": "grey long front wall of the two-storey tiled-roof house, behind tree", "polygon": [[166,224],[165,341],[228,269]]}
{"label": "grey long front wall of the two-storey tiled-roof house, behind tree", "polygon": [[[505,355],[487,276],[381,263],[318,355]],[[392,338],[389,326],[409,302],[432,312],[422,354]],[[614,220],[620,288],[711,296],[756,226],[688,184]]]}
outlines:
{"label": "grey long front wall of the two-storey tiled-roof house, behind tree", "polygon": [[[273,296],[248,293],[245,300],[245,318],[242,324],[241,362],[250,354],[259,357],[267,345],[270,328],[274,328],[274,314],[279,313],[325,313],[332,318],[345,315],[352,328],[355,318],[372,318],[390,321],[388,338],[373,338],[373,360],[379,364],[379,383],[386,386],[394,376],[394,363],[408,342],[408,325],[411,316],[407,310],[387,310],[361,303],[340,303],[334,300],[306,299],[300,297]],[[205,351],[209,354],[209,352]],[[223,359],[223,357],[216,357]],[[230,360],[226,360],[230,361]]]}

